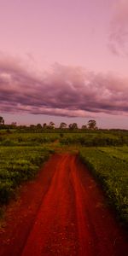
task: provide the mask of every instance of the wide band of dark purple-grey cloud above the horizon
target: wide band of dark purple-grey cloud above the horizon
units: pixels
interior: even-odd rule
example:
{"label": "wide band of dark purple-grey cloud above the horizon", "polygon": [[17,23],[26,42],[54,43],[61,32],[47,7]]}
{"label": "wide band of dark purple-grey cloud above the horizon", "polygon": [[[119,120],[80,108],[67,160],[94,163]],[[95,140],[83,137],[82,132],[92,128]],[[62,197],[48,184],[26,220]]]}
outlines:
{"label": "wide band of dark purple-grey cloud above the horizon", "polygon": [[128,80],[55,63],[32,73],[17,59],[0,61],[0,111],[88,117],[128,113]]}

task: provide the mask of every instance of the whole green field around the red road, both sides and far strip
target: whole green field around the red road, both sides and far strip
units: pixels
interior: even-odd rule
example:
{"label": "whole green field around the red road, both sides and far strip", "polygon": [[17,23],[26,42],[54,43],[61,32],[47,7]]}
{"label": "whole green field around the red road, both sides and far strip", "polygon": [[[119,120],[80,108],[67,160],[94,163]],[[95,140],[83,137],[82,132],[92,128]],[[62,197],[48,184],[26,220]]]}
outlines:
{"label": "whole green field around the red road, both sides and far strip", "polygon": [[[35,176],[55,148],[77,146],[79,156],[102,183],[120,218],[128,222],[128,132],[0,132],[0,204],[21,182]],[[63,149],[62,149],[63,150]]]}

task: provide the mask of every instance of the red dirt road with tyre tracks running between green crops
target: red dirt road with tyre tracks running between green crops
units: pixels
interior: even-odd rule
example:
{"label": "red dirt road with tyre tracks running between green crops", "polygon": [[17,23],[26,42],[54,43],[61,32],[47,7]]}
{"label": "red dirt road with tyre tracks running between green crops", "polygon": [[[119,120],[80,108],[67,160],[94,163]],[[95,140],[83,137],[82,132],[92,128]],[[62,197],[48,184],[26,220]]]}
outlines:
{"label": "red dirt road with tyre tracks running between green crops", "polygon": [[0,256],[125,256],[125,234],[77,156],[56,154],[22,186],[0,230]]}

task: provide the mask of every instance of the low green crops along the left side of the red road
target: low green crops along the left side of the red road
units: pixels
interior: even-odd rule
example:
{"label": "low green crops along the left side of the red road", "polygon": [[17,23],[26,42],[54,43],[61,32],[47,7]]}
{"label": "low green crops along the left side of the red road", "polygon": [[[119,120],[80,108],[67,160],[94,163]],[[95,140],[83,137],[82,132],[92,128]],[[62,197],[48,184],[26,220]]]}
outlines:
{"label": "low green crops along the left side of the red road", "polygon": [[15,195],[15,189],[32,179],[53,150],[46,147],[0,147],[0,207]]}

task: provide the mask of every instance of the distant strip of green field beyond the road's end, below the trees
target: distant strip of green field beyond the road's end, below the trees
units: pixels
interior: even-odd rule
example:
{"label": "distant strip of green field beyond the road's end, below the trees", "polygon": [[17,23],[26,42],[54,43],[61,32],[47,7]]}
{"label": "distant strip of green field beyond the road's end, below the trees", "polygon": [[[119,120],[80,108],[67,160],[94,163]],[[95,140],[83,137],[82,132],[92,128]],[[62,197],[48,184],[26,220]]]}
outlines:
{"label": "distant strip of green field beyond the road's end, below the trees", "polygon": [[128,145],[128,131],[55,131],[20,132],[0,130],[0,145],[2,146],[36,146],[54,143],[59,140],[61,145],[124,146]]}

